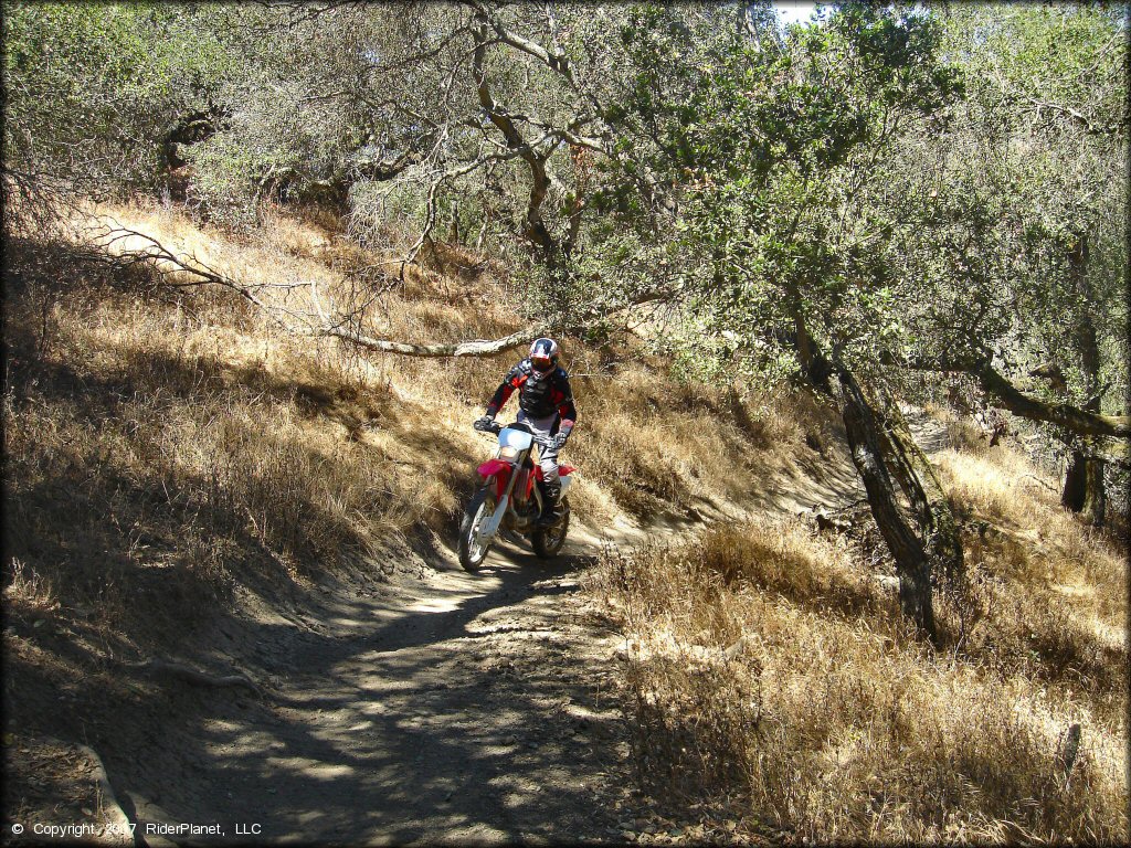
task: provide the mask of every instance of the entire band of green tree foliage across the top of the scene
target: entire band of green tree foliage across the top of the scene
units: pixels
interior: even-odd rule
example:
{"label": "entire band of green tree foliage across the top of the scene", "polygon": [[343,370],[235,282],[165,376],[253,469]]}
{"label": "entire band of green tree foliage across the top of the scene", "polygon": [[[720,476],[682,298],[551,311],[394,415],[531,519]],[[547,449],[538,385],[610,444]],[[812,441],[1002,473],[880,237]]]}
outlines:
{"label": "entire band of green tree foliage across the top of the scene", "polygon": [[1116,7],[846,3],[786,32],[765,3],[491,7],[568,73],[461,6],[6,11],[9,178],[157,190],[171,126],[207,113],[176,155],[211,218],[318,200],[379,246],[474,239],[529,311],[601,338],[647,310],[703,373],[782,377],[804,336],[1125,396]]}

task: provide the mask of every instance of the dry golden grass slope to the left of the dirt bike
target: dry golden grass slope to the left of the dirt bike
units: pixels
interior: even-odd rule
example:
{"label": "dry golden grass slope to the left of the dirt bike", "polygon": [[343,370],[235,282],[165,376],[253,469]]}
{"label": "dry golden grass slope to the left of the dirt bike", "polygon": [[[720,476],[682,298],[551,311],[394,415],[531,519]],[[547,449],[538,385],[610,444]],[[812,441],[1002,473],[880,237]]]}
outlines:
{"label": "dry golden grass slope to the left of the dirt bike", "polygon": [[[349,285],[161,209],[115,217],[241,279]],[[474,438],[388,362],[290,337],[226,293],[84,263],[75,244],[12,240],[5,283],[12,598],[37,574],[64,608],[128,630],[236,585],[285,594],[382,566],[378,545],[452,526]]]}

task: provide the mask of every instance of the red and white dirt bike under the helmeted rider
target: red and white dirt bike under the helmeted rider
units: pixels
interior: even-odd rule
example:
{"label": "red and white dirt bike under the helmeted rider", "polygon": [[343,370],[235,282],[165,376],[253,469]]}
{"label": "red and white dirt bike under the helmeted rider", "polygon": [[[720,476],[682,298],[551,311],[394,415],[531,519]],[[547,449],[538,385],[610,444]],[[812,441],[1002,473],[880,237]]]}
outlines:
{"label": "red and white dirt bike under the helmeted rider", "polygon": [[553,522],[539,527],[542,513],[542,468],[530,459],[534,445],[551,447],[551,440],[537,436],[525,424],[500,426],[492,422],[485,431],[499,438],[494,459],[478,467],[480,487],[467,504],[459,526],[459,564],[464,570],[480,570],[483,560],[500,535],[518,540],[528,536],[534,553],[542,559],[555,556],[566,543],[569,530],[569,500],[566,492],[571,483],[573,468],[559,466],[561,496],[554,508]]}

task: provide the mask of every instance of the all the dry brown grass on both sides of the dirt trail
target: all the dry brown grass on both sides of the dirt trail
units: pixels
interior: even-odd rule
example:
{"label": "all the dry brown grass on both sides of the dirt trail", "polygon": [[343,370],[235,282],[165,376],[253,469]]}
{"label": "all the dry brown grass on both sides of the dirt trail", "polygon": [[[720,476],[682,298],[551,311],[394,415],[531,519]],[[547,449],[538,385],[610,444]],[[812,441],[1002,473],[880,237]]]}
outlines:
{"label": "all the dry brown grass on both sides of the dirt trail", "polygon": [[[347,298],[386,279],[325,216],[276,211],[238,237],[109,211],[245,282]],[[7,248],[9,729],[83,738],[137,696],[123,663],[207,659],[222,622],[292,621],[319,587],[450,548],[489,448],[470,423],[515,353],[359,354],[231,292],[89,262],[81,241]],[[504,268],[449,250],[389,280],[369,317],[390,338],[494,338],[519,326],[516,296]],[[820,841],[1126,837],[1125,550],[1063,514],[1039,471],[977,439],[940,455],[969,580],[929,654],[874,542],[796,517],[852,485],[829,410],[680,383],[625,343],[563,344],[578,519],[748,516],[612,552],[588,578],[627,640],[651,790],[737,798],[751,832]],[[1080,753],[1060,768],[1073,724]]]}

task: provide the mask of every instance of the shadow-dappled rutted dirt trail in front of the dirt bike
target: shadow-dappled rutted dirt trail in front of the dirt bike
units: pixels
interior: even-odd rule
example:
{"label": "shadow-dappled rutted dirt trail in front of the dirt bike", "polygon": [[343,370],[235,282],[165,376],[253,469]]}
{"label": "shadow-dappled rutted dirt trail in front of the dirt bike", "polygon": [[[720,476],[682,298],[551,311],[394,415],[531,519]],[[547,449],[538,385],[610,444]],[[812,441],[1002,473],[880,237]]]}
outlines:
{"label": "shadow-dappled rutted dirt trail in front of the dirt bike", "polygon": [[602,695],[615,639],[580,615],[592,551],[546,564],[504,546],[476,576],[338,596],[310,630],[265,625],[266,695],[200,693],[198,724],[119,752],[127,812],[230,840],[619,841],[629,749]]}

